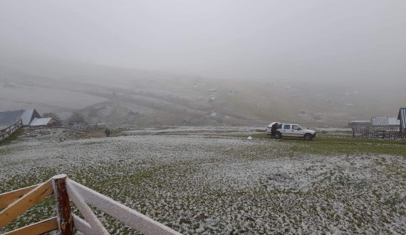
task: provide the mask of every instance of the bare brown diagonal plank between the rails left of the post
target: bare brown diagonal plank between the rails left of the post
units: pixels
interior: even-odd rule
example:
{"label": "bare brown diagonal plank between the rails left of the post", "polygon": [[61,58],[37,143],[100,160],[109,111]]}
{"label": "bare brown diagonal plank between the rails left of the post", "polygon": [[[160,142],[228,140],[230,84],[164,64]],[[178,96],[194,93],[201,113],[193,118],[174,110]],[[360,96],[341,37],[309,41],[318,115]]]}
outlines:
{"label": "bare brown diagonal plank between the rails left of the post", "polygon": [[6,207],[6,209],[0,212],[0,229],[52,193],[52,182],[48,180],[28,192],[19,200],[9,204],[9,207]]}

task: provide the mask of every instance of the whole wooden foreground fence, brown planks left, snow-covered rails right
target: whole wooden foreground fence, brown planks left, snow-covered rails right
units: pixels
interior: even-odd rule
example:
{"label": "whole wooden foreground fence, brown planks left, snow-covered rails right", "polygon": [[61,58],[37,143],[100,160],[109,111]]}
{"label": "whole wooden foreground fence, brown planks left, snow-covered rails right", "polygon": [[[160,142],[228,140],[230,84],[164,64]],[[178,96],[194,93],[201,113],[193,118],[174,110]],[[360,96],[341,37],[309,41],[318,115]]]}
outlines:
{"label": "whole wooden foreground fence, brown planks left, snow-covered rails right", "polygon": [[[88,204],[92,204],[132,229],[146,235],[179,234],[179,232],[150,219],[150,217],[115,202],[110,197],[101,195],[68,179],[66,175],[56,175],[42,184],[1,194],[0,209],[5,209],[0,212],[0,229],[53,193],[56,198],[56,217],[5,234],[43,234],[48,231],[59,230],[60,234],[67,235],[73,234],[75,229],[83,234],[109,234]],[[69,200],[76,204],[84,219],[76,214],[71,214]]]}

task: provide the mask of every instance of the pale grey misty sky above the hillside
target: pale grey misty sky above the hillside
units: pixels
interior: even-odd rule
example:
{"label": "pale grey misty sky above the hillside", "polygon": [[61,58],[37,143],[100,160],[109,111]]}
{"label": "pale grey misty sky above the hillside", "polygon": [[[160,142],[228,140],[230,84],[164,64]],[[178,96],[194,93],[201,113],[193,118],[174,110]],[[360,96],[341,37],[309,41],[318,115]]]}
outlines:
{"label": "pale grey misty sky above the hillside", "polygon": [[0,0],[0,57],[229,78],[406,80],[406,1]]}

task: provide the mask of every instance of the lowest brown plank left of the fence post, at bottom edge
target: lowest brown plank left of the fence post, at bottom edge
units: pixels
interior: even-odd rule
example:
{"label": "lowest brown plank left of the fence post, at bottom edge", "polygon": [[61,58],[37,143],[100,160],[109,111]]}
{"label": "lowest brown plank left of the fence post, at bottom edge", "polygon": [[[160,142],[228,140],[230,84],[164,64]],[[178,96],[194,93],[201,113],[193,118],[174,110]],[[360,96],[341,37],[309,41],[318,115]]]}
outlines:
{"label": "lowest brown plank left of the fence post, at bottom edge", "polygon": [[20,229],[6,232],[3,235],[38,235],[45,234],[48,231],[53,231],[56,229],[58,229],[58,221],[56,220],[56,217],[52,217],[35,224],[24,226]]}

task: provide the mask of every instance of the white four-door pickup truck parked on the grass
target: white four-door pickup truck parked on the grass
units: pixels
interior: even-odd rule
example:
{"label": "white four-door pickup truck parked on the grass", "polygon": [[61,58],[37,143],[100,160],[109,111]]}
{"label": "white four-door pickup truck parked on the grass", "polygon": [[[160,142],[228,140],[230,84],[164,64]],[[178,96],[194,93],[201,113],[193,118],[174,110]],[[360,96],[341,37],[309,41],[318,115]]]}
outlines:
{"label": "white four-door pickup truck parked on the grass", "polygon": [[311,139],[316,136],[316,131],[303,129],[298,124],[282,124],[278,122],[273,122],[266,128],[266,133],[269,135],[271,134],[271,128],[274,124],[278,125],[275,131],[275,138],[282,138],[282,136],[298,137],[304,138],[306,141],[311,141]]}

